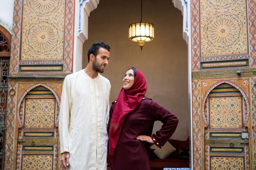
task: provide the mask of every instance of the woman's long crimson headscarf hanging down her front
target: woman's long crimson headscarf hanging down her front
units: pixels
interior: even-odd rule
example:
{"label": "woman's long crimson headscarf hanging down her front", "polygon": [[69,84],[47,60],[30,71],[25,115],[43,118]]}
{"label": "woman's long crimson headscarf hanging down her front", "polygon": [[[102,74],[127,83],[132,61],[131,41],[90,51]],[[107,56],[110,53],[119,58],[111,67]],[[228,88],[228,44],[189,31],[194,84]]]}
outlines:
{"label": "woman's long crimson headscarf hanging down her front", "polygon": [[[137,69],[137,68],[136,68]],[[126,115],[131,113],[142,101],[147,91],[147,82],[144,75],[137,69],[134,83],[132,86],[125,90],[121,89],[119,92],[117,102],[115,104],[112,117],[110,120],[109,129],[109,152],[108,152],[108,165],[113,166],[113,158],[117,142],[121,133],[122,126]]]}

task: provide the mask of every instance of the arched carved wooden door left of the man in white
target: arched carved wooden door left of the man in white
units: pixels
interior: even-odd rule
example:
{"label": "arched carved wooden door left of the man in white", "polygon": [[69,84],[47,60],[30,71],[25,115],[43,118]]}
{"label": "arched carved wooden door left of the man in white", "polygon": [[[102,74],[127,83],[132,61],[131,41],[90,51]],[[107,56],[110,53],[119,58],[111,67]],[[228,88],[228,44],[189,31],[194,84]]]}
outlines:
{"label": "arched carved wooden door left of the man in white", "polygon": [[18,106],[19,124],[17,170],[57,170],[58,104],[54,94],[38,86],[25,95]]}

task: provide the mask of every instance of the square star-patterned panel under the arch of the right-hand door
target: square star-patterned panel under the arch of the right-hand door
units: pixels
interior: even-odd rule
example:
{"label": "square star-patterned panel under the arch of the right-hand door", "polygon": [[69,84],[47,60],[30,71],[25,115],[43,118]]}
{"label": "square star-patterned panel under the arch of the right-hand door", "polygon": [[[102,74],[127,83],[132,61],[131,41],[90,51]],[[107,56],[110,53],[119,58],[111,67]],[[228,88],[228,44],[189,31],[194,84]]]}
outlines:
{"label": "square star-patterned panel under the arch of the right-hand door", "polygon": [[210,128],[243,128],[242,97],[210,97]]}

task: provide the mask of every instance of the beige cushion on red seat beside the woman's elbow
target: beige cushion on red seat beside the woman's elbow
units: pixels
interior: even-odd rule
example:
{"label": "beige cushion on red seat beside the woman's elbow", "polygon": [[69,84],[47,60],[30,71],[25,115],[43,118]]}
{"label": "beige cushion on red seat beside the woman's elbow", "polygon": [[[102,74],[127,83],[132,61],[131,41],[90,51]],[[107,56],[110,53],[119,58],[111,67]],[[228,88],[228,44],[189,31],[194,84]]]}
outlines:
{"label": "beige cushion on red seat beside the woman's elbow", "polygon": [[155,155],[160,159],[166,159],[169,155],[171,155],[176,148],[174,148],[169,142],[166,142],[162,149],[158,148],[155,144],[150,147],[150,149],[154,149]]}

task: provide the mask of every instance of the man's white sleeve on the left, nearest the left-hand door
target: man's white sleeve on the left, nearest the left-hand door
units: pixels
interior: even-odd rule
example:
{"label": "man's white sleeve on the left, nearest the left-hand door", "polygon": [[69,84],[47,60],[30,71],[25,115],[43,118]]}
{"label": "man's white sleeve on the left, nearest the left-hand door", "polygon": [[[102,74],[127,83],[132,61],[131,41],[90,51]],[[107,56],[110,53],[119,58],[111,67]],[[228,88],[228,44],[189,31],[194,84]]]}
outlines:
{"label": "man's white sleeve on the left, nearest the left-hand door", "polygon": [[68,150],[68,129],[70,126],[70,110],[72,107],[71,84],[70,79],[66,77],[63,82],[61,94],[61,108],[59,117],[59,132],[61,153],[69,152]]}

